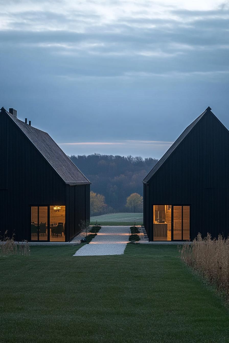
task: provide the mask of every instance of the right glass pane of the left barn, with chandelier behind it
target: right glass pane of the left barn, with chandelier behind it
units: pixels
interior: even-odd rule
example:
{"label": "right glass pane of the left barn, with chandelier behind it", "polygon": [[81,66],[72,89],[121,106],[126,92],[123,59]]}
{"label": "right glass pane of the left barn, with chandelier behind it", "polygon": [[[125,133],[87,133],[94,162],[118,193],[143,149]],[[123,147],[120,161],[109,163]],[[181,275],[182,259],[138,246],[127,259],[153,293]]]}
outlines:
{"label": "right glass pane of the left barn, with chandelier behind it", "polygon": [[50,242],[65,242],[65,206],[50,206]]}

